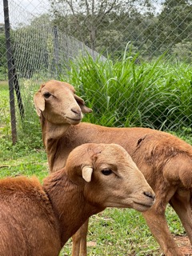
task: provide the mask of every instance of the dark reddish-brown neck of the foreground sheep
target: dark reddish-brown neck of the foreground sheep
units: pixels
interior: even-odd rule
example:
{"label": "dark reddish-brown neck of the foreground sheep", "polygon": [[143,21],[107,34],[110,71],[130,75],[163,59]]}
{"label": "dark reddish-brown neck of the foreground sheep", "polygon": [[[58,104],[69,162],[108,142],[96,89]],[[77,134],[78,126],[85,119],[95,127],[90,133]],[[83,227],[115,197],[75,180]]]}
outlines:
{"label": "dark reddish-brown neck of the foreground sheep", "polygon": [[86,202],[83,186],[71,182],[66,176],[65,169],[58,170],[47,177],[44,180],[43,189],[50,198],[54,215],[58,220],[62,246],[86,219],[103,210]]}

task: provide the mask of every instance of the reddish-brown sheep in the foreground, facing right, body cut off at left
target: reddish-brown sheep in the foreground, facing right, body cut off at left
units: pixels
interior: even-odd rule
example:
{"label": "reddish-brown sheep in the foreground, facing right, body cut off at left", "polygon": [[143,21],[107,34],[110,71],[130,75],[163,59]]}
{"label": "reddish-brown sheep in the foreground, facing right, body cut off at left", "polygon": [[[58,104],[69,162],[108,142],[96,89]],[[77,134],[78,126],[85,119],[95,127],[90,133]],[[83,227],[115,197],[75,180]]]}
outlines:
{"label": "reddish-brown sheep in the foreground, facing right, body cut off at left", "polygon": [[0,255],[56,256],[91,215],[153,204],[154,191],[122,146],[83,144],[43,185],[21,176],[0,180]]}

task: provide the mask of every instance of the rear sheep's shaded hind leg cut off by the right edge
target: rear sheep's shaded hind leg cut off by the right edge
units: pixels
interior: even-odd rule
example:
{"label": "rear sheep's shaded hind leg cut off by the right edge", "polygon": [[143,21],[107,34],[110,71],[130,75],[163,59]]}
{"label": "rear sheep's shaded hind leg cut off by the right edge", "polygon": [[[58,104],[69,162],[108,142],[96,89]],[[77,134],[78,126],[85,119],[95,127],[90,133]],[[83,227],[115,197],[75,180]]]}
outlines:
{"label": "rear sheep's shaded hind leg cut off by the right edge", "polygon": [[192,244],[192,222],[191,222],[191,205],[190,190],[178,190],[170,200],[170,205],[178,214],[186,234]]}

